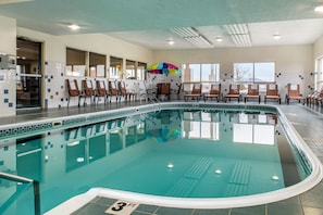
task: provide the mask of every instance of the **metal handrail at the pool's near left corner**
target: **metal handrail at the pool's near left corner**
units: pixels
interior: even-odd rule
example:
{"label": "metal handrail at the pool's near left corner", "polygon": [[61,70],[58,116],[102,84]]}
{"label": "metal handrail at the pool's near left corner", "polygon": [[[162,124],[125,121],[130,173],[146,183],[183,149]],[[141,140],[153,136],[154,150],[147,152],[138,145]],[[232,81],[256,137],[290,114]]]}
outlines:
{"label": "metal handrail at the pool's near left corner", "polygon": [[33,184],[34,187],[34,207],[35,207],[35,215],[40,215],[40,189],[39,189],[39,181],[33,180],[29,178],[2,173],[0,172],[0,178],[12,180],[22,184]]}

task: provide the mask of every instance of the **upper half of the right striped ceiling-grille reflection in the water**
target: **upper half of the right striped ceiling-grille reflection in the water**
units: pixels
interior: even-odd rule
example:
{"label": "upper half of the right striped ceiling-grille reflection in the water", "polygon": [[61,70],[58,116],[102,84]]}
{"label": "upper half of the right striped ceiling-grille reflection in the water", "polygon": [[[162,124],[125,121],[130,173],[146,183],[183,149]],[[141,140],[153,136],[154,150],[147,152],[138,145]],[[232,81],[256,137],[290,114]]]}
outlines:
{"label": "upper half of the right striped ceiling-grille reflection in the water", "polygon": [[237,161],[228,182],[235,184],[235,185],[248,185],[250,179],[250,173],[251,173],[250,162]]}

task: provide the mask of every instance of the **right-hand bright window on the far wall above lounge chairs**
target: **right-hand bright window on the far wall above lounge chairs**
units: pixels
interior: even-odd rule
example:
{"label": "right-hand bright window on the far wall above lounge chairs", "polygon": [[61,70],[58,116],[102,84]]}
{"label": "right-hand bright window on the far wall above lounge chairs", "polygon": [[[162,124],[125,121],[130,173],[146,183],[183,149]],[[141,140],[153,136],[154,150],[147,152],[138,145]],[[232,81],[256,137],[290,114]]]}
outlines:
{"label": "right-hand bright window on the far wall above lounge chairs", "polygon": [[275,63],[235,63],[234,81],[236,83],[274,83]]}

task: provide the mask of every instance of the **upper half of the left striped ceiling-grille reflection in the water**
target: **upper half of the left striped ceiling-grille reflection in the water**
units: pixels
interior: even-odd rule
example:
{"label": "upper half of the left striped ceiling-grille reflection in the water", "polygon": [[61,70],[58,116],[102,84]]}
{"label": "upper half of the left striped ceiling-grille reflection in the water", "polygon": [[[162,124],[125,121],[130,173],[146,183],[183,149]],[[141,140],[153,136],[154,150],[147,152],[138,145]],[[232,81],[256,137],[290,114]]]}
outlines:
{"label": "upper half of the left striped ceiling-grille reflection in the water", "polygon": [[209,166],[212,163],[210,157],[200,157],[195,164],[186,172],[186,178],[201,179]]}

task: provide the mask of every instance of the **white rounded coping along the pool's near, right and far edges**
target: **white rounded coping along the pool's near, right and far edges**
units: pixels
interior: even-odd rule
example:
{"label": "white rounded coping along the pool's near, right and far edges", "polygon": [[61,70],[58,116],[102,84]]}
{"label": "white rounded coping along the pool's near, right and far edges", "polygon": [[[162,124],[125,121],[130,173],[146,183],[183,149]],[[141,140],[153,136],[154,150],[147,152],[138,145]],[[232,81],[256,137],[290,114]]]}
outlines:
{"label": "white rounded coping along the pool's near, right and far edges", "polygon": [[[174,102],[172,104],[178,104],[178,103],[183,104],[184,102]],[[165,104],[170,104],[170,103],[165,103]],[[189,102],[185,102],[185,104],[186,105],[191,104],[192,108],[197,108],[197,109],[204,108],[204,106],[209,105],[209,103],[189,103]],[[164,104],[161,103],[159,105],[163,106]],[[222,105],[222,104],[213,103],[213,106],[219,106],[219,105],[226,106],[227,104]],[[244,104],[229,104],[229,106],[246,108],[246,105],[244,105]],[[263,105],[248,104],[248,106],[252,108],[252,106],[263,106]],[[277,113],[284,119],[284,124],[283,124],[284,129],[286,130],[288,136],[291,136],[291,138],[294,140],[297,140],[297,146],[300,149],[302,149],[306,156],[310,161],[310,164],[312,166],[312,173],[305,180],[298,182],[297,185],[294,185],[294,186],[290,186],[288,188],[284,188],[281,190],[262,193],[262,194],[253,194],[253,195],[239,197],[239,198],[216,198],[216,199],[214,199],[214,198],[203,198],[203,199],[169,198],[169,197],[158,197],[158,195],[149,195],[149,194],[126,192],[126,191],[119,191],[119,190],[107,189],[107,188],[92,188],[88,192],[77,195],[75,198],[72,198],[72,199],[67,200],[66,202],[62,203],[61,205],[52,208],[47,214],[54,214],[53,212],[59,210],[60,206],[64,206],[64,205],[67,206],[69,201],[77,202],[77,199],[79,199],[79,198],[80,199],[82,198],[90,199],[89,197],[94,197],[94,194],[96,197],[121,199],[124,201],[136,202],[139,204],[169,206],[169,207],[178,207],[178,208],[233,208],[233,207],[254,206],[254,205],[260,205],[260,204],[272,203],[272,202],[285,200],[285,199],[301,194],[301,193],[312,189],[323,178],[323,168],[322,168],[321,162],[319,161],[316,155],[311,151],[311,149],[307,146],[305,140],[300,137],[298,131],[294,128],[294,126],[287,119],[287,117],[282,112],[282,110],[276,105],[268,105],[266,104],[265,106],[270,108],[270,109],[275,109],[277,111]],[[137,106],[137,109],[140,111],[140,106]],[[233,204],[233,202],[235,202],[235,203]],[[84,204],[82,204],[82,203],[78,204],[79,207],[82,207],[83,205]]]}

